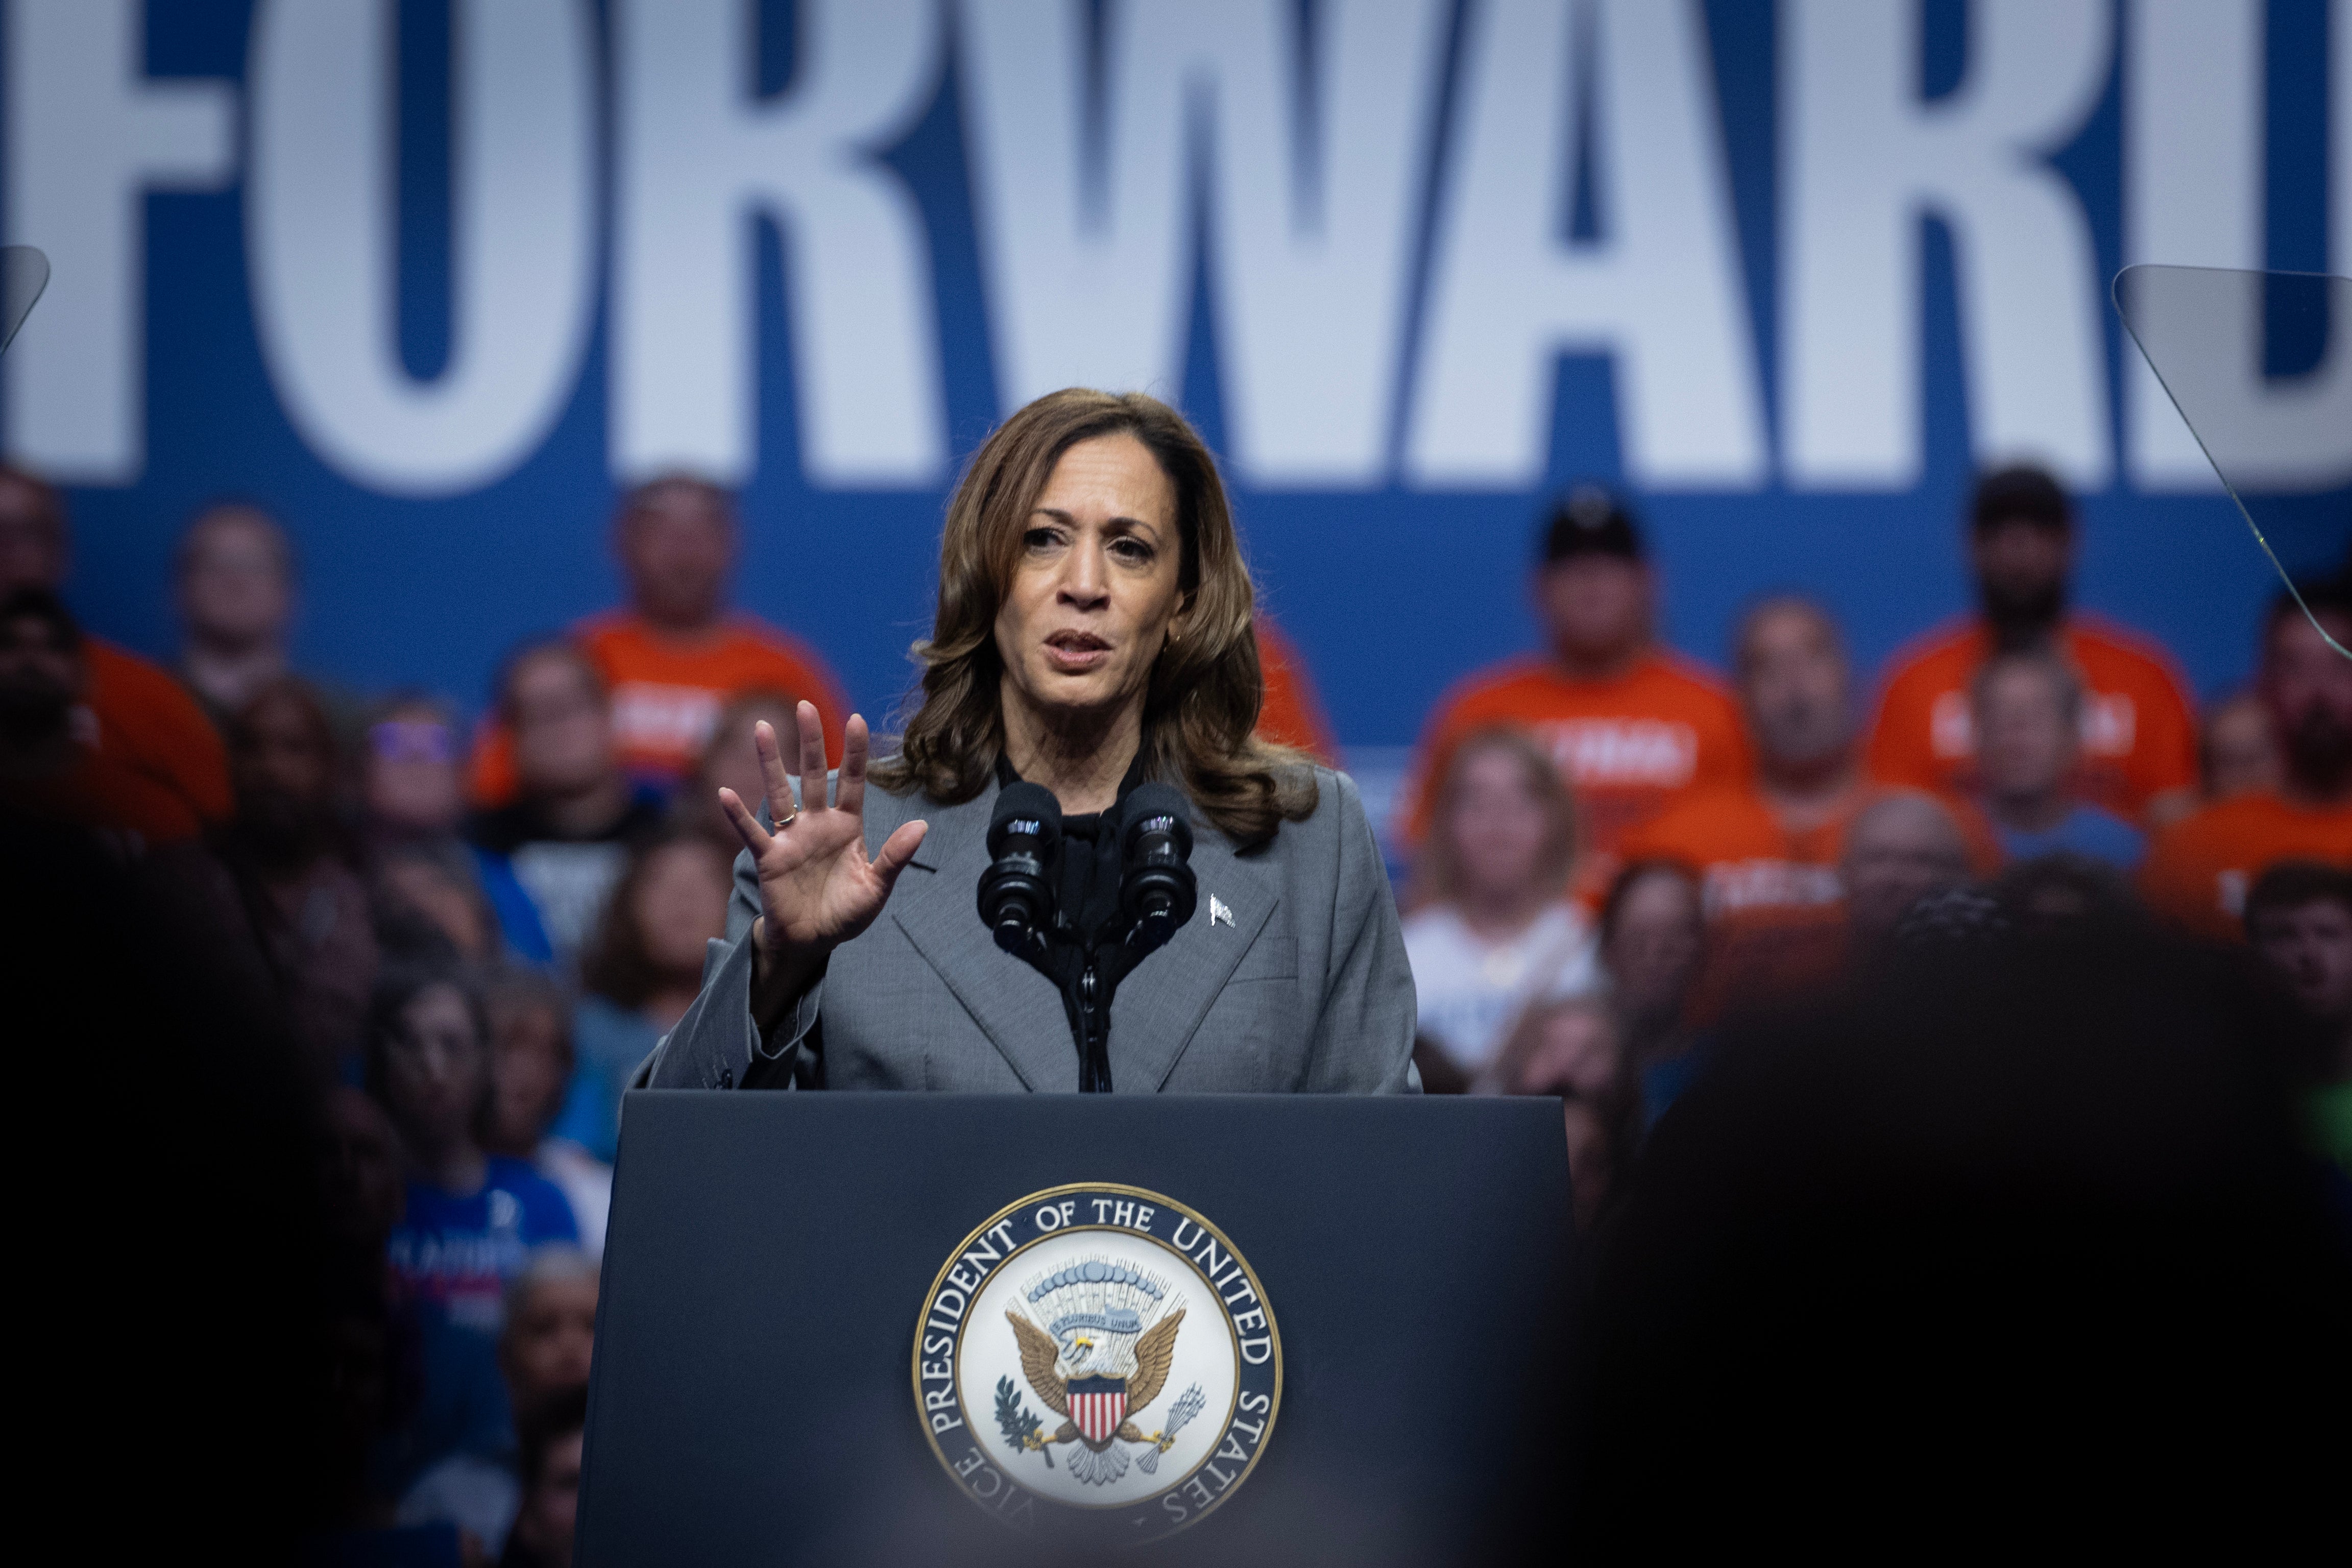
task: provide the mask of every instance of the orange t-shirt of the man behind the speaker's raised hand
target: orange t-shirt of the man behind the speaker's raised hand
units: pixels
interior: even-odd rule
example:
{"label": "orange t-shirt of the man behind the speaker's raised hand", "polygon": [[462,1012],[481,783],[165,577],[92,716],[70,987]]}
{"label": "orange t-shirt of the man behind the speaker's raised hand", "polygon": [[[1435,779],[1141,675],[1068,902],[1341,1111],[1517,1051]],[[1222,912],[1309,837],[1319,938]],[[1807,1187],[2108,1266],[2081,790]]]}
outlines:
{"label": "orange t-shirt of the man behind the speaker's raised hand", "polygon": [[[842,755],[842,684],[816,649],[762,621],[729,616],[703,637],[673,637],[635,611],[612,611],[572,635],[612,686],[612,738],[621,766],[640,778],[677,783],[691,773],[727,701],[760,686],[816,703],[826,750],[835,762]],[[480,806],[515,797],[513,738],[496,717],[475,731],[468,790]]]}

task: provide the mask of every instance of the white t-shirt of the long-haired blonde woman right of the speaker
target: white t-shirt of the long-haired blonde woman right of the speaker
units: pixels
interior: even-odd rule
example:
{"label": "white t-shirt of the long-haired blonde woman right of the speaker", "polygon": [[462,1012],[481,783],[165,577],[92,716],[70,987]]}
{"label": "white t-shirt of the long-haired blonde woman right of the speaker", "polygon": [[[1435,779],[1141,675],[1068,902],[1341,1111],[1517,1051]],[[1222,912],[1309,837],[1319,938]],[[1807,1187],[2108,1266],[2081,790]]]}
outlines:
{"label": "white t-shirt of the long-haired blonde woman right of the speaker", "polygon": [[1512,938],[1489,943],[1454,905],[1416,910],[1404,922],[1404,957],[1414,964],[1418,1032],[1477,1072],[1503,1048],[1503,1030],[1531,1001],[1559,1001],[1599,990],[1599,957],[1585,917],[1555,903]]}

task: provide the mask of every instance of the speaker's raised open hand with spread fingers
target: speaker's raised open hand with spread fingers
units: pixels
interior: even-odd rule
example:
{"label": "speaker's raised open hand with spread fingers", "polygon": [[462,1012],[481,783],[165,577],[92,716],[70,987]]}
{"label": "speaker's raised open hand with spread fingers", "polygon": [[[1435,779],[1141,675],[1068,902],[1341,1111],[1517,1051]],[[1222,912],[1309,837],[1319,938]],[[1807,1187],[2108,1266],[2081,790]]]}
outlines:
{"label": "speaker's raised open hand with spread fingers", "polygon": [[898,872],[915,858],[927,823],[906,823],[889,835],[882,853],[866,858],[866,719],[851,715],[842,741],[842,778],[826,804],[826,729],[811,703],[795,710],[800,729],[800,783],[804,802],[793,811],[793,785],[783,773],[776,731],[753,726],[760,773],[767,778],[776,832],[734,790],[720,790],[720,806],[760,870],[760,922],[753,940],[762,957],[788,969],[821,964],[837,945],[875,922]]}

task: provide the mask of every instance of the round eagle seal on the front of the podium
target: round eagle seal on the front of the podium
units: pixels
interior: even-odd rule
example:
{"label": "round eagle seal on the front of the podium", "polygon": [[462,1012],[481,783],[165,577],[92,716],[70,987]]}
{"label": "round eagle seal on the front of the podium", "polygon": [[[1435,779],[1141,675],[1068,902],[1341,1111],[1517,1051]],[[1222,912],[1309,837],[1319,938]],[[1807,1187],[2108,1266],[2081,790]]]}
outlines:
{"label": "round eagle seal on the front of the podium", "polygon": [[1028,1530],[1143,1542],[1256,1467],[1282,1403],[1275,1309],[1183,1204],[1082,1182],[1033,1192],[948,1255],[915,1335],[931,1450]]}

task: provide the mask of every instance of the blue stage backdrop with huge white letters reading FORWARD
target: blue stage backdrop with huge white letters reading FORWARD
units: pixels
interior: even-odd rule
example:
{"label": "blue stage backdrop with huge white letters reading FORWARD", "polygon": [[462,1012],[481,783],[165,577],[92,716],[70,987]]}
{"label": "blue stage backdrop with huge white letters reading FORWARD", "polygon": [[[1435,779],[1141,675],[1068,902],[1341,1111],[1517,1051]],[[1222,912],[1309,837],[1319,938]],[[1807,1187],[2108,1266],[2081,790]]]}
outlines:
{"label": "blue stage backdrop with huge white letters reading FORWARD", "polygon": [[[1682,649],[1795,585],[1875,668],[1966,604],[1971,465],[2049,461],[2082,599],[2216,693],[2274,581],[2107,282],[2352,270],[2352,0],[5,0],[0,47],[56,268],[0,433],[80,611],[167,651],[174,536],[254,498],[301,658],[466,705],[684,465],[884,710],[946,487],[1065,383],[1200,421],[1364,759],[1534,644],[1581,475]],[[2291,564],[2352,534],[2352,430],[2324,468]]]}

